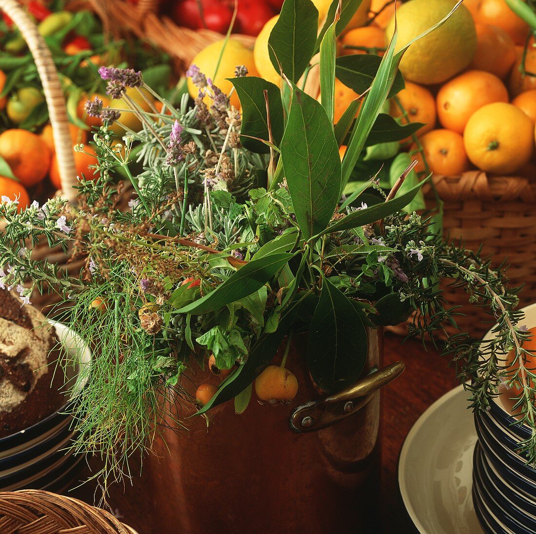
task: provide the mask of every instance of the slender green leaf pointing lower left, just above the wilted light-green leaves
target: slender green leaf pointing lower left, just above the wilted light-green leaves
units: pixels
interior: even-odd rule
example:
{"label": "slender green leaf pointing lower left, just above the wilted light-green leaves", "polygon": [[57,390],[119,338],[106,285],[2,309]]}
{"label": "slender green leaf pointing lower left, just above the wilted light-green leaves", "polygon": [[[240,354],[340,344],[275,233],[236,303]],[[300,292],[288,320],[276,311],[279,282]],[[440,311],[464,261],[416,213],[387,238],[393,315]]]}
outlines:
{"label": "slender green leaf pointing lower left, just above the wilted light-green leaves", "polygon": [[292,257],[293,254],[280,253],[254,259],[234,272],[214,291],[183,306],[178,311],[179,313],[204,314],[243,299],[244,296],[258,291]]}

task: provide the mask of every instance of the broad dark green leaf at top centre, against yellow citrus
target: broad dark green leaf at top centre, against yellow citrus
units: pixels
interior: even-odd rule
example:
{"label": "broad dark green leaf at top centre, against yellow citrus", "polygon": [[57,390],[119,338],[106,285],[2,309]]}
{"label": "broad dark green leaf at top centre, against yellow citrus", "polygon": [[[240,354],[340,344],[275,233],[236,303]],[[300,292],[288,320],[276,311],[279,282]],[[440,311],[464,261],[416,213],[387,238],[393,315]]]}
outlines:
{"label": "broad dark green leaf at top centre, against yellow citrus", "polygon": [[318,10],[310,0],[285,0],[268,39],[270,60],[277,72],[296,83],[315,53]]}

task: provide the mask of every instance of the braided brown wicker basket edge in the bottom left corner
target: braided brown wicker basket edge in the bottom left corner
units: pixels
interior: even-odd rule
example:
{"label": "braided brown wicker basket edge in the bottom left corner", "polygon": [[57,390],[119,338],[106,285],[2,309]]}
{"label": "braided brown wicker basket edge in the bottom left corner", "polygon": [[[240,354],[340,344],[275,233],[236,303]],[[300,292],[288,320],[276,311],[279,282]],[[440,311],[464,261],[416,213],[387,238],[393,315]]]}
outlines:
{"label": "braided brown wicker basket edge in the bottom left corner", "polygon": [[106,510],[48,491],[0,492],[2,534],[137,534]]}

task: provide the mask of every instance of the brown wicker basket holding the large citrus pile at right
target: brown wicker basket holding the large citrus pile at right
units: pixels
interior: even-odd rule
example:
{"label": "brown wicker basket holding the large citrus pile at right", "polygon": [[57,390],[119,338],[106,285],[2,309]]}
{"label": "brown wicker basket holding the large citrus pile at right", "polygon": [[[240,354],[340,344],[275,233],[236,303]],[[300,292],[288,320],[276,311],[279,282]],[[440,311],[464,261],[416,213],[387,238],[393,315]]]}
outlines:
{"label": "brown wicker basket holding the large citrus pile at right", "polygon": [[[435,176],[434,183],[444,201],[444,231],[450,240],[462,242],[470,250],[482,246],[482,256],[491,256],[492,265],[505,259],[509,285],[524,284],[519,308],[536,301],[536,183],[516,176],[487,176],[481,170],[461,176]],[[430,205],[434,196],[425,191]],[[487,308],[470,305],[461,289],[442,285],[447,301],[461,306],[456,317],[459,327],[481,337],[496,322]],[[407,333],[406,325],[390,328]],[[455,333],[453,328],[446,329]]]}

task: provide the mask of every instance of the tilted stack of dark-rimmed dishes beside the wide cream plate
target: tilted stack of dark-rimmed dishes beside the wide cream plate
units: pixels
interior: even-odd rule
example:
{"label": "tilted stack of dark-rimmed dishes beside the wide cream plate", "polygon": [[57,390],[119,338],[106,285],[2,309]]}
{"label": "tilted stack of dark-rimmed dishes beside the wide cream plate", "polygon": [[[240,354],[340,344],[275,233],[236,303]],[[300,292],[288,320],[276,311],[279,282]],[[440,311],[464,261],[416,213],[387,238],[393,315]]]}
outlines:
{"label": "tilted stack of dark-rimmed dishes beside the wide cream plate", "polygon": [[[536,305],[524,309],[536,325]],[[488,334],[489,336],[489,334]],[[513,394],[493,399],[488,412],[475,413],[478,443],[473,458],[473,501],[485,532],[536,532],[536,469],[519,453],[531,429],[510,413]]]}

